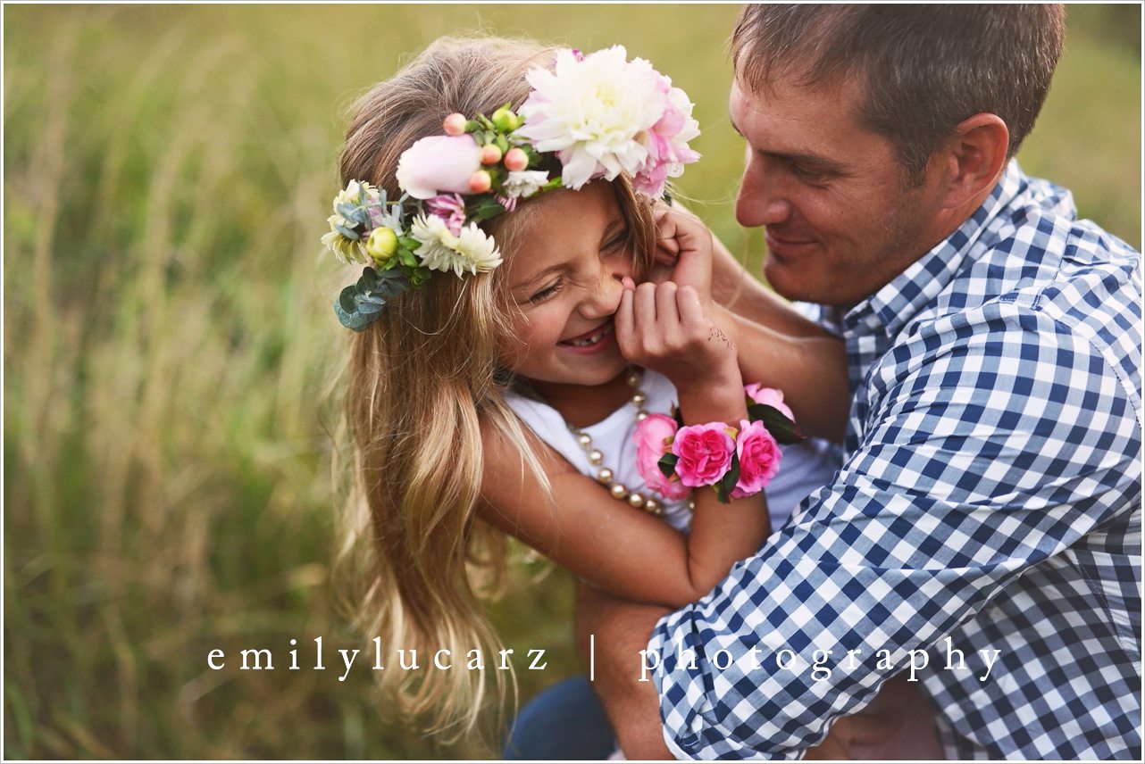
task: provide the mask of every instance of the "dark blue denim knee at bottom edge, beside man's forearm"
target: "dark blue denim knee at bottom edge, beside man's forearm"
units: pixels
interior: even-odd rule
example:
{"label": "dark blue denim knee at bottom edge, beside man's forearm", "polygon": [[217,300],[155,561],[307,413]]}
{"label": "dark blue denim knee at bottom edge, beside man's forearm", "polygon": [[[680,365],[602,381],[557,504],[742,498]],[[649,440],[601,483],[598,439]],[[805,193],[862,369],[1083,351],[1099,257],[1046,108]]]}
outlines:
{"label": "dark blue denim knee at bottom edge, beside man's forearm", "polygon": [[605,708],[584,676],[564,679],[524,705],[503,758],[601,761],[616,748]]}

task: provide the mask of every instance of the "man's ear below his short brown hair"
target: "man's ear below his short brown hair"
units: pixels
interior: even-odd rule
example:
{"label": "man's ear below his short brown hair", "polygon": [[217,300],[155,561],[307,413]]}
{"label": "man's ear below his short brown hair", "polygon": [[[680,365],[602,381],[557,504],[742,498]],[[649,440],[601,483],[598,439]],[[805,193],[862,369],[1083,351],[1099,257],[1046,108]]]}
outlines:
{"label": "man's ear below his short brown hair", "polygon": [[946,186],[943,207],[955,208],[973,201],[994,188],[1005,168],[1010,129],[997,114],[980,113],[958,122],[942,143]]}

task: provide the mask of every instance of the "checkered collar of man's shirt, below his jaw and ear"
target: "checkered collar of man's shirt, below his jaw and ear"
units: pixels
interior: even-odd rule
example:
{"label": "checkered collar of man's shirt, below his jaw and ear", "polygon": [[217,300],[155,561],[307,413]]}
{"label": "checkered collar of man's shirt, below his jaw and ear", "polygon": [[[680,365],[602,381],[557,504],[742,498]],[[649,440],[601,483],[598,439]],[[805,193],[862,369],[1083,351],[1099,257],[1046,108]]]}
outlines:
{"label": "checkered collar of man's shirt, below his jaw and ear", "polygon": [[990,194],[958,229],[911,263],[878,292],[843,317],[846,333],[872,334],[883,328],[891,337],[919,310],[930,304],[962,268],[987,222],[1009,205],[1027,185],[1027,178],[1011,159]]}

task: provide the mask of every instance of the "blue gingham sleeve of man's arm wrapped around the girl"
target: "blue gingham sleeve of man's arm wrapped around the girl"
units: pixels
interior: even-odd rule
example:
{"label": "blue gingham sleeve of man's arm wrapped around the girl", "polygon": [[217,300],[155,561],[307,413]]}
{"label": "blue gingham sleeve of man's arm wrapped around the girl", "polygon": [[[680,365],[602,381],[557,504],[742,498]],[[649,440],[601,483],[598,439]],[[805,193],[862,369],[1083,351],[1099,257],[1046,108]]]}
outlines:
{"label": "blue gingham sleeve of man's arm wrapped around the girl", "polygon": [[[799,758],[909,651],[1124,506],[1140,449],[1129,397],[1099,350],[1033,310],[992,303],[916,329],[864,389],[863,437],[835,483],[655,628],[677,757]],[[799,656],[787,669],[783,648]],[[815,650],[832,651],[826,679]]]}

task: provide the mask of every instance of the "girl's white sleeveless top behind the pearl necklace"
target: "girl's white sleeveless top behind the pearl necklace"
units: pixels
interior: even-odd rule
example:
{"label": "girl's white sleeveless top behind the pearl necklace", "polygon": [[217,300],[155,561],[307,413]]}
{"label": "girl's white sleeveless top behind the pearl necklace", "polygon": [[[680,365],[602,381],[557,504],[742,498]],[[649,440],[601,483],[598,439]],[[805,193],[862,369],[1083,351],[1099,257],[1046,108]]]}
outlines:
{"label": "girl's white sleeveless top behind the pearl necklace", "polygon": [[[650,368],[645,369],[640,389],[648,396],[645,409],[652,414],[669,414],[677,404],[676,385]],[[521,421],[577,471],[595,479],[600,468],[608,467],[616,476],[614,479],[623,483],[630,491],[639,491],[646,496],[661,500],[664,519],[676,530],[687,533],[692,522],[688,500],[662,499],[660,494],[648,491],[637,471],[637,446],[632,440],[637,429],[637,409],[633,405],[625,404],[600,422],[581,428],[582,432],[592,437],[593,447],[605,455],[603,463],[597,465],[589,461],[589,455],[581,448],[564,417],[555,408],[513,390],[506,390],[504,395],[505,401]],[[780,453],[780,471],[764,491],[773,532],[783,527],[791,511],[808,493],[830,483],[842,463],[842,448],[816,438],[781,446]]]}

